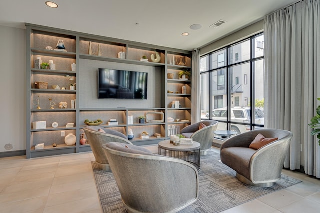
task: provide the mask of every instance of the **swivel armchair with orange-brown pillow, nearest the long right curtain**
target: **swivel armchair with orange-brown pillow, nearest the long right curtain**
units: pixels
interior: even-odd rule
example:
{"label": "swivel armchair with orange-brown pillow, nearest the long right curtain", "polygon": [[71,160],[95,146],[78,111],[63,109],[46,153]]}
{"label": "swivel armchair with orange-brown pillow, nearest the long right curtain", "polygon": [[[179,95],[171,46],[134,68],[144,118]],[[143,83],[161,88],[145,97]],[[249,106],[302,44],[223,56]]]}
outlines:
{"label": "swivel armchair with orange-brown pillow, nearest the long right curtain", "polygon": [[280,129],[257,129],[238,134],[222,143],[221,161],[236,171],[239,181],[270,187],[281,178],[291,138],[291,132]]}

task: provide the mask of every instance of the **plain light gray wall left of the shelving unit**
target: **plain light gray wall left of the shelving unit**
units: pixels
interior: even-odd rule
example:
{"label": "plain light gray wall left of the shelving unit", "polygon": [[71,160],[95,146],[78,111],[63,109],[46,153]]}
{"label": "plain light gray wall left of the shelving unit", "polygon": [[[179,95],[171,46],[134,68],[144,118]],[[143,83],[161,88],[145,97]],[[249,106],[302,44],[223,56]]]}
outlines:
{"label": "plain light gray wall left of the shelving unit", "polygon": [[[25,30],[0,26],[0,152],[25,150]],[[5,144],[13,148],[6,150]]]}

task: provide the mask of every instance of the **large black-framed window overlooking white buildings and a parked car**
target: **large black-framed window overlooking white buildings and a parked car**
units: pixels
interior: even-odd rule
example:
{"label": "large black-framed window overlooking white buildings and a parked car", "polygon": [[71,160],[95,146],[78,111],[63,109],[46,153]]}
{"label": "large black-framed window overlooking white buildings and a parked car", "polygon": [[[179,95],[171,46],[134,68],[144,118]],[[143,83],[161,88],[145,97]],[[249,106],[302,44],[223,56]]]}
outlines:
{"label": "large black-framed window overlooking white buildings and a parked car", "polygon": [[202,120],[238,133],[263,127],[263,47],[260,33],[200,57]]}

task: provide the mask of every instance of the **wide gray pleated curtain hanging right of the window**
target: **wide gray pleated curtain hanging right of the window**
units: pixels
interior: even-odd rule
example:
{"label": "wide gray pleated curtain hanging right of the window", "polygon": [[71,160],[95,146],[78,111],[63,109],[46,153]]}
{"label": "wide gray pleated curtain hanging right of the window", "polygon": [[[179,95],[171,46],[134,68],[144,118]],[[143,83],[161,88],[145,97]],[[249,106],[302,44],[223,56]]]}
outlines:
{"label": "wide gray pleated curtain hanging right of the window", "polygon": [[320,104],[319,1],[299,1],[264,18],[265,127],[293,133],[284,167],[302,165],[318,178],[320,147],[308,123]]}

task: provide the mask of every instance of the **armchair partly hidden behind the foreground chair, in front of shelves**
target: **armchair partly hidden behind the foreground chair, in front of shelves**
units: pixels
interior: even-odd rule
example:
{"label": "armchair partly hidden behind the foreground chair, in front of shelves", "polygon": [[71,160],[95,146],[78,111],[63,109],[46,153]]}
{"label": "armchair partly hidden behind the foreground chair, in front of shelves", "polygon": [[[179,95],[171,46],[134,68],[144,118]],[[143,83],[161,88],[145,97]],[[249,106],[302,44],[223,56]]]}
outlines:
{"label": "armchair partly hidden behind the foreground chair, in front of shelves", "polygon": [[109,162],[102,148],[103,144],[111,141],[132,144],[126,139],[126,136],[123,133],[116,130],[98,126],[87,126],[84,127],[83,130],[90,143],[95,161],[98,163],[98,167],[101,170],[111,171]]}

